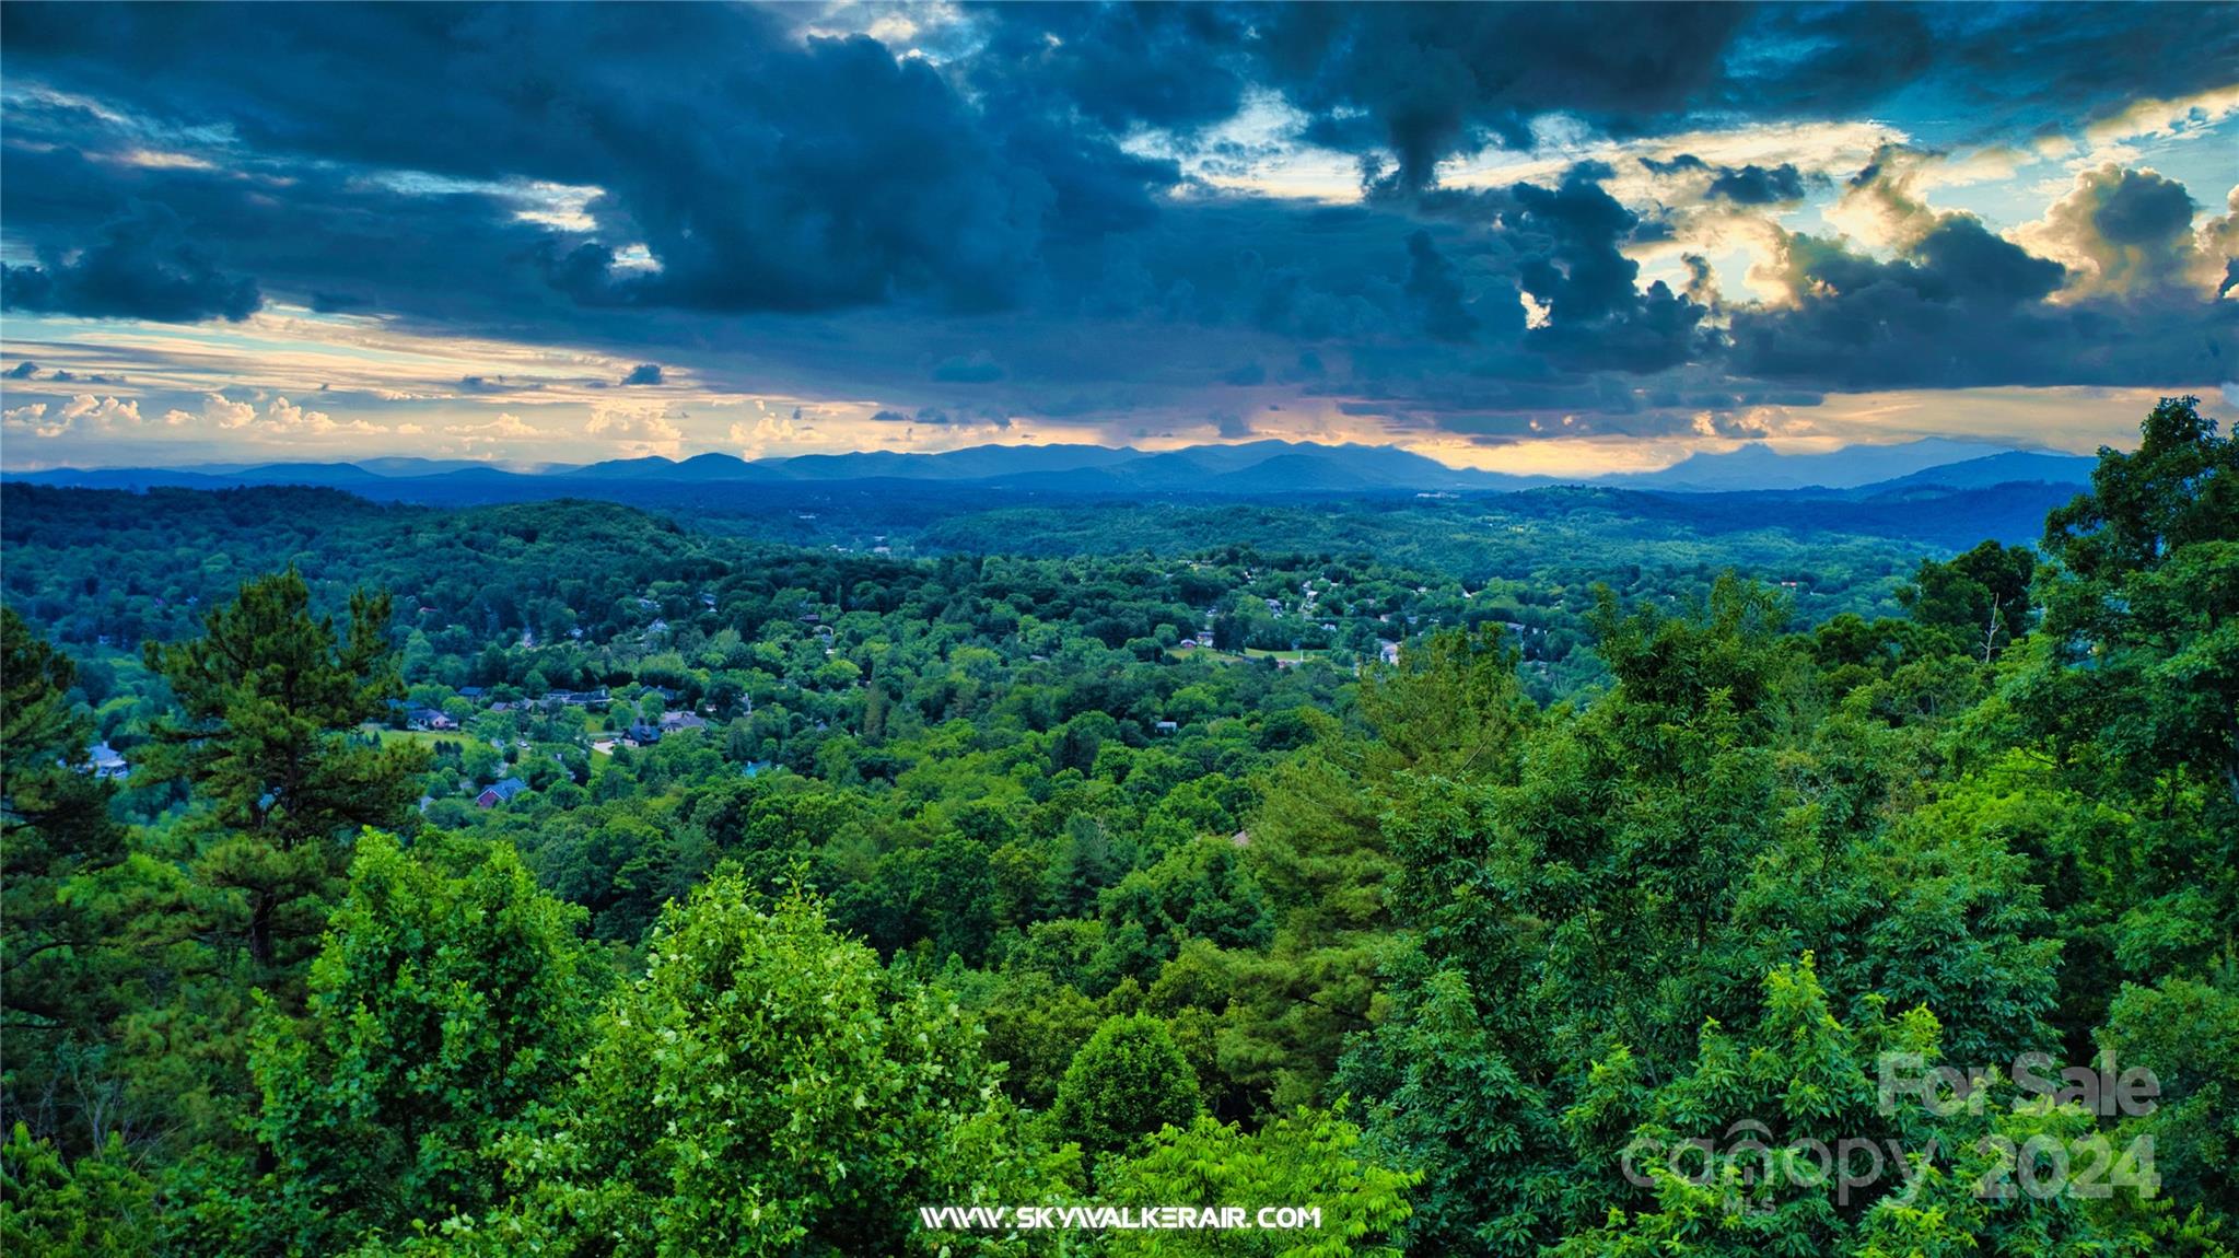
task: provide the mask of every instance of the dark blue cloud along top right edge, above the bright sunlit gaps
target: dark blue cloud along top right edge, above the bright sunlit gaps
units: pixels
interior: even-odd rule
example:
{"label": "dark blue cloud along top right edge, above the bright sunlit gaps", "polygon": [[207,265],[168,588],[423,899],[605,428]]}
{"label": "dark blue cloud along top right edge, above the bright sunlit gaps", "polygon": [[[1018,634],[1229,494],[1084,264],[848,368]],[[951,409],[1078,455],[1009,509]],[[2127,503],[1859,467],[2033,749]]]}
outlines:
{"label": "dark blue cloud along top right edge, above the bright sunlit gaps", "polygon": [[[1249,74],[1310,114],[1332,148],[1388,150],[1395,188],[1498,141],[1529,148],[1561,112],[1610,134],[1729,116],[1840,116],[1941,92],[1999,123],[2096,119],[2223,85],[2230,7],[1917,4],[1276,4],[1249,7]],[[1200,16],[1202,18],[1202,16]],[[1227,81],[1231,25],[1202,20],[1207,81]],[[1171,125],[1151,114],[1137,121]]]}

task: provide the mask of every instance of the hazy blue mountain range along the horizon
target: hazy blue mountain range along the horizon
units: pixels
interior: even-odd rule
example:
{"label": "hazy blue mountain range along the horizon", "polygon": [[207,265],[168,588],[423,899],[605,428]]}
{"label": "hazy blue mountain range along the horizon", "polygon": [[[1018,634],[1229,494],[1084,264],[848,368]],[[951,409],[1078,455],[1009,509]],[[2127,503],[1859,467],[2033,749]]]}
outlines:
{"label": "hazy blue mountain range along the horizon", "polygon": [[[1317,445],[1249,441],[1187,450],[1131,450],[1108,445],[974,445],[940,454],[869,450],[855,454],[795,454],[739,459],[609,459],[584,466],[499,468],[461,459],[363,459],[356,463],[260,463],[202,468],[56,468],[0,472],[47,486],[85,488],[226,488],[329,486],[369,497],[443,501],[448,497],[607,497],[598,486],[748,486],[934,481],[976,490],[1046,495],[1296,495],[1296,492],[1458,492],[1525,490],[1554,484],[1596,484],[1664,492],[1843,490],[1865,488],[1988,488],[1999,484],[2087,484],[2093,459],[2004,450],[1968,441],[1923,439],[1899,445],[1847,445],[1825,454],[1782,454],[1751,443],[1722,454],[1688,459],[1637,475],[1516,477],[1449,468],[1390,445]],[[925,486],[931,488],[931,486]],[[631,495],[636,497],[636,495]]]}

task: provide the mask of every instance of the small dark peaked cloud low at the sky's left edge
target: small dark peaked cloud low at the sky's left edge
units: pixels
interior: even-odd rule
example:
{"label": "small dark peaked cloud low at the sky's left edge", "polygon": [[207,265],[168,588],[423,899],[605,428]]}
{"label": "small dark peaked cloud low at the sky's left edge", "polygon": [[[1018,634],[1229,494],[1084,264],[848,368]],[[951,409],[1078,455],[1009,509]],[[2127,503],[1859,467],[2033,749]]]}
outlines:
{"label": "small dark peaked cloud low at the sky's left edge", "polygon": [[74,257],[43,246],[38,264],[0,273],[0,307],[74,316],[240,322],[264,304],[257,282],[217,269],[170,206],[137,204],[101,224]]}

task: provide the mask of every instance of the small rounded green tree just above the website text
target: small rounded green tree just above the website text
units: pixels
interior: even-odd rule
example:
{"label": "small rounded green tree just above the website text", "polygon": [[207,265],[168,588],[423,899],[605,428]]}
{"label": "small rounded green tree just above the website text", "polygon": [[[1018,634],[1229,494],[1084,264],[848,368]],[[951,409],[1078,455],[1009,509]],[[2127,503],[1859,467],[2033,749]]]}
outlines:
{"label": "small rounded green tree just above the website text", "polygon": [[1120,1153],[1202,1108],[1198,1077],[1167,1023],[1135,1014],[1106,1018],[1072,1054],[1050,1119],[1059,1139],[1086,1153]]}

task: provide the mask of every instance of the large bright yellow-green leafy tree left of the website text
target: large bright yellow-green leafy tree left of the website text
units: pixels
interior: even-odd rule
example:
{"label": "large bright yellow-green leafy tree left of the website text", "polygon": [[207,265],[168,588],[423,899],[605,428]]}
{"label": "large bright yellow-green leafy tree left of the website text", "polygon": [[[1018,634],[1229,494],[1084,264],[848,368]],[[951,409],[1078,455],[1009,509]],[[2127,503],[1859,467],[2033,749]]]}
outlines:
{"label": "large bright yellow-green leafy tree left of the website text", "polygon": [[[837,938],[804,895],[719,871],[669,904],[598,1023],[558,1130],[508,1144],[517,1200],[470,1251],[931,1254],[920,1204],[1048,1191],[978,1030]],[[582,1247],[582,1249],[575,1249]]]}

